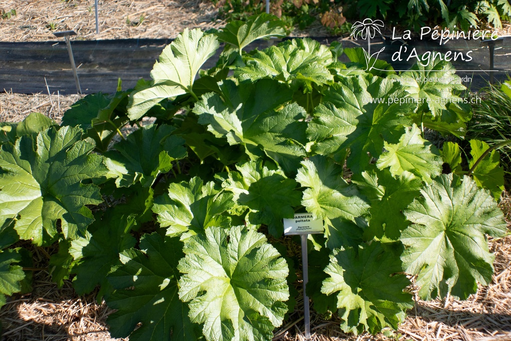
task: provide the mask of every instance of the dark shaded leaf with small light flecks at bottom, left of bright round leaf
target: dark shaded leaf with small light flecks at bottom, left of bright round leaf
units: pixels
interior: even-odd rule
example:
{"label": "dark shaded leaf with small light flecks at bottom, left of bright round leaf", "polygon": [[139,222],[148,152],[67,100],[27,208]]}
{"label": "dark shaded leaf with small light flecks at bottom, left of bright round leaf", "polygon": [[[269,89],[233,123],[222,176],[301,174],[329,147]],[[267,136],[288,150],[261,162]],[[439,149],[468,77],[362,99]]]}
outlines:
{"label": "dark shaded leaf with small light flecks at bottom, left of bright round leaf", "polygon": [[183,256],[179,239],[156,233],[142,236],[140,250],[131,248],[120,254],[122,265],[108,275],[113,292],[105,295],[107,305],[117,309],[107,320],[112,337],[129,336],[132,341],[199,338],[188,306],[177,295],[176,267]]}

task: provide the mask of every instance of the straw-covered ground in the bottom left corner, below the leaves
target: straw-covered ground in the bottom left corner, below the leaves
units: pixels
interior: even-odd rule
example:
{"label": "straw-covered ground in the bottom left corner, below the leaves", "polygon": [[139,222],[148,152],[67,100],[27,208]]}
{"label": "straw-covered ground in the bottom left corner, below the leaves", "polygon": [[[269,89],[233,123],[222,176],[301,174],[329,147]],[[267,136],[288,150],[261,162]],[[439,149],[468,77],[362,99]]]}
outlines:
{"label": "straw-covered ground in the bottom left corner, below the leaves", "polygon": [[48,255],[50,248],[24,245],[34,256],[33,290],[14,295],[0,310],[4,327],[3,341],[113,341],[106,317],[111,310],[96,302],[96,292],[78,297],[71,282],[58,289],[51,281]]}

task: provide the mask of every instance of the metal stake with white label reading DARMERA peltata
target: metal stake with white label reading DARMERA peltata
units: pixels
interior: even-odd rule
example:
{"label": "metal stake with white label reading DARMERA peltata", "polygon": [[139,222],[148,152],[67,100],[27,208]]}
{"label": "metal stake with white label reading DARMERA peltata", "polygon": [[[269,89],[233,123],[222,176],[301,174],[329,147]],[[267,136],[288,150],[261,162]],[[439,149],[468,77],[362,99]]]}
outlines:
{"label": "metal stake with white label reading DARMERA peltata", "polygon": [[309,267],[307,257],[307,235],[323,233],[323,222],[315,220],[310,213],[296,213],[293,219],[284,219],[284,234],[300,235],[301,237],[301,266],[303,270],[304,284],[304,321],[305,321],[305,339],[311,339],[311,317],[309,311],[309,297],[306,286],[309,282]]}

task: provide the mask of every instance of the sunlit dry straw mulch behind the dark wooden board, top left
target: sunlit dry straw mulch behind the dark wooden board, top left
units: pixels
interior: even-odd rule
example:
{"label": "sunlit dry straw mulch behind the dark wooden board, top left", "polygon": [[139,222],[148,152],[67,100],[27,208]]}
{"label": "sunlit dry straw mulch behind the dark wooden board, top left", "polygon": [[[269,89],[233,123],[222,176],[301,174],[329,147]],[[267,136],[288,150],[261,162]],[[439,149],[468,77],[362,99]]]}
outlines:
{"label": "sunlit dry straw mulch behind the dark wooden board, top left", "polygon": [[213,4],[201,0],[0,0],[0,41],[56,40],[53,32],[74,30],[73,39],[175,38],[184,28],[225,26]]}

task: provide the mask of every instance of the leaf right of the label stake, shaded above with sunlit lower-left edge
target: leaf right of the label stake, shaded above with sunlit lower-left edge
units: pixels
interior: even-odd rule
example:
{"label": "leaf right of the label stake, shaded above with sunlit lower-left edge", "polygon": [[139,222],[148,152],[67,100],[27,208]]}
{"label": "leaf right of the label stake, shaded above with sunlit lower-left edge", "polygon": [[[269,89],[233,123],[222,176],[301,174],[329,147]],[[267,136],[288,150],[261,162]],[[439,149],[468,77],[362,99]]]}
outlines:
{"label": "leaf right of the label stake, shaded above with sunlit lower-left edge", "polygon": [[379,333],[385,327],[398,329],[413,307],[412,295],[404,292],[410,281],[400,260],[373,241],[358,248],[336,249],[324,269],[322,293],[337,295],[341,329],[355,335]]}

